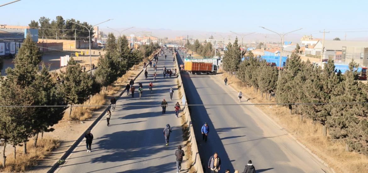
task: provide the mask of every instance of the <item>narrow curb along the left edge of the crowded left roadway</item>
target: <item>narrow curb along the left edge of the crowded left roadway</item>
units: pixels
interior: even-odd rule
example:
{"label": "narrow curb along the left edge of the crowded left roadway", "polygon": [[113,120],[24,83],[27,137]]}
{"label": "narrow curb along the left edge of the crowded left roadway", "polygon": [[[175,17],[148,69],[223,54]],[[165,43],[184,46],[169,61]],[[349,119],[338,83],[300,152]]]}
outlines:
{"label": "narrow curb along the left edge of the crowded left roadway", "polygon": [[[133,81],[135,81],[139,75],[141,75],[141,73],[143,72],[143,69],[134,77]],[[127,89],[124,89],[119,95],[118,95],[118,99],[124,94],[124,92],[126,91]],[[102,117],[106,114],[106,111],[110,109],[111,106],[109,107],[106,107],[106,109],[96,118],[95,121],[92,122],[92,124],[85,129],[85,131],[87,131],[88,129],[91,129],[96,126],[96,124],[98,123],[98,121],[100,121],[102,119]],[[85,132],[84,131],[84,132]],[[77,147],[77,145],[79,144],[79,142],[81,142],[83,139],[84,139],[84,135],[85,133],[82,133],[82,135],[76,140],[73,142],[73,144],[67,149],[66,152],[64,152],[64,154],[60,157],[60,159],[57,159],[53,166],[47,171],[47,173],[52,173],[54,172],[58,167],[59,167],[59,160],[65,160],[69,155],[70,153],[74,150],[75,147]]]}

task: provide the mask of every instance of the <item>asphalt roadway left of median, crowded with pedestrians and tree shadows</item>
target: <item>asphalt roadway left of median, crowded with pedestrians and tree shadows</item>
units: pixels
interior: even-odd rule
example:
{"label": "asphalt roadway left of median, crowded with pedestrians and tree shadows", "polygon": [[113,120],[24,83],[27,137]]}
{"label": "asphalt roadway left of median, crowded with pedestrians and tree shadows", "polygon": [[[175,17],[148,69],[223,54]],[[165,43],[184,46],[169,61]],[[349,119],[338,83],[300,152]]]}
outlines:
{"label": "asphalt roadway left of median, crowded with pedestrians and tree shadows", "polygon": [[[175,117],[174,106],[168,106],[166,114],[162,114],[160,106],[129,106],[129,105],[160,105],[163,99],[174,105],[179,101],[176,78],[163,78],[163,66],[174,68],[171,53],[159,57],[158,77],[153,81],[153,67],[148,68],[148,80],[142,73],[135,80],[135,95],[124,93],[117,100],[116,111],[112,112],[110,126],[106,117],[92,129],[94,136],[92,152],[86,151],[83,140],[72,151],[56,172],[59,173],[91,173],[91,172],[121,172],[121,173],[163,173],[176,172],[175,151],[177,145],[183,144],[180,118]],[[153,93],[148,89],[153,82]],[[139,99],[138,84],[143,84],[143,95]],[[169,89],[174,89],[173,100],[170,100]],[[128,107],[119,107],[125,105]],[[169,146],[165,146],[163,129],[170,124],[173,132],[170,135]],[[185,148],[184,148],[185,151]],[[183,172],[187,172],[185,160],[182,163]]]}

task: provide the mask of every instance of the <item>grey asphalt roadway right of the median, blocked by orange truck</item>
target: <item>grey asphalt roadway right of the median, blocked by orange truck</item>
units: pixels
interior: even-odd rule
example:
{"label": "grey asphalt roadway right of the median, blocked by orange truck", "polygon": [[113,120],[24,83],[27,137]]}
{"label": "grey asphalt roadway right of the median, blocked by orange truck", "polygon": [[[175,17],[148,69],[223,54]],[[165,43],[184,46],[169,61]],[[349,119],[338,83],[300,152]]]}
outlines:
{"label": "grey asphalt roadway right of the median, blocked by orange truck", "polygon": [[[181,53],[179,51],[180,56]],[[184,52],[184,57],[186,56]],[[183,63],[181,61],[183,60],[178,58],[178,63]],[[239,91],[225,86],[217,75],[182,73],[182,78],[188,104],[239,103],[237,100]],[[205,167],[209,157],[218,152],[222,160],[219,172],[226,169],[230,169],[230,172],[234,170],[243,172],[248,160],[252,160],[257,173],[330,172],[255,106],[190,108],[199,155]],[[205,122],[210,128],[206,143],[202,141],[201,135],[201,127]]]}

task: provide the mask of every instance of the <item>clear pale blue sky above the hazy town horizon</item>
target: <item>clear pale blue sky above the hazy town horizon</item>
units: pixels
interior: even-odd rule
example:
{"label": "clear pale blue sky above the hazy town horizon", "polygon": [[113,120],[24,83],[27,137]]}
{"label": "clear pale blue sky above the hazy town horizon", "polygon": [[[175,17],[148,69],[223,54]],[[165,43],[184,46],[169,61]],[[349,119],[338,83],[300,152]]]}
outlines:
{"label": "clear pale blue sky above the hazy town horizon", "polygon": [[[12,0],[0,0],[0,4]],[[0,24],[27,25],[45,16],[54,19],[75,18],[96,24],[114,20],[101,28],[136,28],[196,30],[212,32],[271,33],[304,28],[297,34],[318,31],[368,31],[368,1],[364,0],[21,0],[0,7]],[[366,28],[366,29],[359,29]],[[343,37],[331,32],[329,36]],[[350,37],[368,37],[368,32],[348,33]]]}

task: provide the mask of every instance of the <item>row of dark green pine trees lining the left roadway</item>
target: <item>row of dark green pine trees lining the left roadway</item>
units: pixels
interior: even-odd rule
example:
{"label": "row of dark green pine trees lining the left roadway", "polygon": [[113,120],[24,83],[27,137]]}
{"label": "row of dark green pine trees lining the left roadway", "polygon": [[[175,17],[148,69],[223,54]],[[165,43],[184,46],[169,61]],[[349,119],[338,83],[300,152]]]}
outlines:
{"label": "row of dark green pine trees lining the left roadway", "polygon": [[49,67],[42,63],[39,48],[28,35],[15,56],[14,68],[7,68],[7,76],[0,79],[0,105],[4,106],[0,107],[3,166],[6,145],[13,145],[14,152],[16,146],[24,146],[26,153],[28,139],[35,137],[33,145],[36,146],[38,134],[53,131],[50,127],[62,119],[68,105],[71,112],[71,105],[82,104],[102,88],[106,89],[158,48],[157,44],[151,43],[131,51],[125,36],[116,42],[110,33],[107,52],[105,56],[100,56],[93,76],[83,72],[82,67],[71,57],[66,70],[59,74],[63,80],[60,82],[52,78]]}

